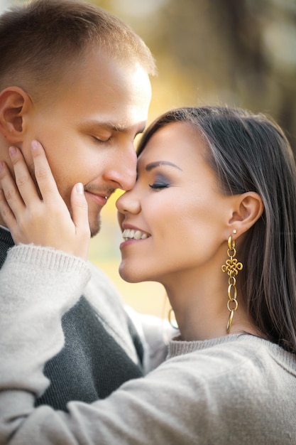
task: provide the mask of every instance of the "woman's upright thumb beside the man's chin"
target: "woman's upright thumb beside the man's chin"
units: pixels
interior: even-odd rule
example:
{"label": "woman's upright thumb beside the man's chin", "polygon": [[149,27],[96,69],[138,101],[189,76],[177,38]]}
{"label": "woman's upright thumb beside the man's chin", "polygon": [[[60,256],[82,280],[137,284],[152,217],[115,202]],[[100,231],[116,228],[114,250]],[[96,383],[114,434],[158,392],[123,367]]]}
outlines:
{"label": "woman's upright thumb beside the man's chin", "polygon": [[87,200],[84,196],[84,189],[82,183],[77,183],[72,188],[71,193],[71,209],[72,220],[75,225],[77,233],[77,252],[81,257],[87,259],[87,252],[89,247],[90,230],[88,218]]}

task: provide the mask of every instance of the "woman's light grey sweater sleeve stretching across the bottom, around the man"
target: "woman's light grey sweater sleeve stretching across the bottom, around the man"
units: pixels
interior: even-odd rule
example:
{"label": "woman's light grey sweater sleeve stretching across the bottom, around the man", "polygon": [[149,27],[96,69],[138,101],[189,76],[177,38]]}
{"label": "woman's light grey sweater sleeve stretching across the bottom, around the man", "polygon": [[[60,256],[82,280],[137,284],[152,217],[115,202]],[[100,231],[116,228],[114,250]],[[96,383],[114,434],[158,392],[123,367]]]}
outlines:
{"label": "woman's light grey sweater sleeve stretching across the bottom, around the man", "polygon": [[35,409],[25,391],[0,393],[0,444],[294,445],[295,377],[270,361],[264,374],[248,357],[236,365],[229,356],[226,372],[225,359],[171,358],[105,400],[70,402],[67,413]]}

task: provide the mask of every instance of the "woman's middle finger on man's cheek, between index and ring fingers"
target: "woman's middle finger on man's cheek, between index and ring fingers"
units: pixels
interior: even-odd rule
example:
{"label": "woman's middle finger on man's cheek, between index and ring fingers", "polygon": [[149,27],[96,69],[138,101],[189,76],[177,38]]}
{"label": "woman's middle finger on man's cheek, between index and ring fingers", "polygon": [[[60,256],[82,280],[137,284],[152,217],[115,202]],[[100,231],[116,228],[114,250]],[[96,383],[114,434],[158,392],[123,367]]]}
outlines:
{"label": "woman's middle finger on man's cheek, between index and ring fingers", "polygon": [[36,199],[39,200],[38,191],[21,150],[15,146],[9,147],[9,156],[13,164],[14,176],[16,177],[16,187],[23,202],[29,205],[32,200],[34,202]]}

